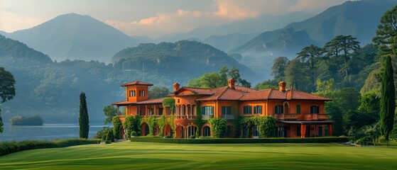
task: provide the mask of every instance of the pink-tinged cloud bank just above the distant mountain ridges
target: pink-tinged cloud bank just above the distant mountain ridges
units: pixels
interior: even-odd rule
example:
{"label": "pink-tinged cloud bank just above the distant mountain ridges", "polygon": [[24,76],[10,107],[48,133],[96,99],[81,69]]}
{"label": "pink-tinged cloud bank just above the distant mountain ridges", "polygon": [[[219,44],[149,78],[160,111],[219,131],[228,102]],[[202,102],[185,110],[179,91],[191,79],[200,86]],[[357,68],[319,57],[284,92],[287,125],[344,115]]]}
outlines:
{"label": "pink-tinged cloud bank just above the distant mountain ridges", "polygon": [[123,22],[108,20],[127,35],[149,35],[158,38],[170,33],[186,33],[197,27],[219,26],[222,23],[256,18],[264,14],[285,15],[294,11],[318,13],[346,0],[215,0],[214,11],[178,11],[156,13],[156,16],[139,21]]}

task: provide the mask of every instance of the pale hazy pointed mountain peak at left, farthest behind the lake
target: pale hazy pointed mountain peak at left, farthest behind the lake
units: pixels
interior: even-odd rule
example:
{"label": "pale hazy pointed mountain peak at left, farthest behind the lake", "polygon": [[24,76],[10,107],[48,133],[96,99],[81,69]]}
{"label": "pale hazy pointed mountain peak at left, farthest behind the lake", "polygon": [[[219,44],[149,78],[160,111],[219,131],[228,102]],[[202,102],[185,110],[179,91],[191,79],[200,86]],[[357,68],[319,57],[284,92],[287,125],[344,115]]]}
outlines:
{"label": "pale hazy pointed mountain peak at left, farthest behind the lake", "polygon": [[115,52],[138,45],[121,31],[91,16],[69,13],[57,16],[33,28],[7,33],[53,60],[98,60],[109,63]]}

